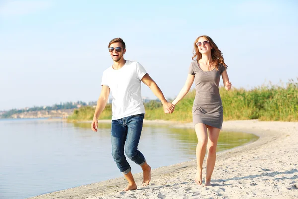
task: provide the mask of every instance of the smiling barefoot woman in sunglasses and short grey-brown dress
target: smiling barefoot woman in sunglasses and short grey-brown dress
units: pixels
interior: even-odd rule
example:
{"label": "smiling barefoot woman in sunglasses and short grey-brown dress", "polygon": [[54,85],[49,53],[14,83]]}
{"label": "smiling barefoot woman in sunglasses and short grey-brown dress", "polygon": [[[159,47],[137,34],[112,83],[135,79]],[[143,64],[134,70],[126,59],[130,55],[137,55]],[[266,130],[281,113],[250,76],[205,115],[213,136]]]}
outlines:
{"label": "smiling barefoot woman in sunglasses and short grey-brown dress", "polygon": [[194,62],[189,67],[185,85],[172,104],[176,105],[182,100],[195,80],[196,97],[192,109],[194,128],[198,138],[195,182],[198,185],[202,184],[203,160],[207,145],[205,186],[209,186],[215,165],[216,145],[223,123],[223,106],[218,88],[221,75],[226,90],[231,89],[232,83],[229,82],[223,54],[209,36],[203,35],[196,39],[193,54]]}

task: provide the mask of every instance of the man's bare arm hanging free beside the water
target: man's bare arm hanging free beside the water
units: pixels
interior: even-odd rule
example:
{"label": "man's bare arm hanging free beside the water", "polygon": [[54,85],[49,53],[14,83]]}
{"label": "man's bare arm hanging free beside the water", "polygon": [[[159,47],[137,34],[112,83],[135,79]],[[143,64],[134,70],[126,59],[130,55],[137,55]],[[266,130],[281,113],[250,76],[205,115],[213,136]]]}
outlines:
{"label": "man's bare arm hanging free beside the water", "polygon": [[98,119],[97,118],[104,110],[104,108],[108,102],[109,95],[110,95],[110,88],[106,85],[102,85],[101,93],[97,100],[97,105],[96,105],[96,109],[94,112],[93,121],[91,124],[91,129],[94,132],[97,132],[97,128],[98,128]]}

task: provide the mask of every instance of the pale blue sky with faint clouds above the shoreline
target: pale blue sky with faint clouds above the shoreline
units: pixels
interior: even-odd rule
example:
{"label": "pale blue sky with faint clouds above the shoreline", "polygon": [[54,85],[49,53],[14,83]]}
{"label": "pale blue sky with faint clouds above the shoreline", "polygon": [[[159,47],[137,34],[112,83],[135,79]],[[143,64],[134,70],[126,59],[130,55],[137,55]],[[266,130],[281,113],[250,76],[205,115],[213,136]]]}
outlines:
{"label": "pale blue sky with faint clouds above the shoreline", "polygon": [[[0,110],[96,101],[115,37],[168,98],[200,35],[223,52],[234,87],[285,83],[298,77],[297,10],[296,0],[0,0]],[[142,95],[156,98],[145,85]]]}

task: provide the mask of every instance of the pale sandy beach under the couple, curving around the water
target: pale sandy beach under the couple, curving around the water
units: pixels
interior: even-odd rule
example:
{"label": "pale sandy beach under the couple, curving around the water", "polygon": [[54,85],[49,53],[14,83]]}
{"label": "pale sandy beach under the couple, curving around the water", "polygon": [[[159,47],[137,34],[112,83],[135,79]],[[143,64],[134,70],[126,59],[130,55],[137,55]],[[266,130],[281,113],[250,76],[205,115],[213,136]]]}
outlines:
{"label": "pale sandy beach under the couple, curving around the water", "polygon": [[[192,128],[192,124],[158,122]],[[134,191],[122,191],[127,182],[121,177],[30,199],[298,198],[298,122],[226,121],[222,130],[254,133],[260,139],[218,153],[212,186],[194,183],[196,161],[193,160],[152,170],[152,180],[146,187],[141,187],[142,174],[133,173],[138,185]],[[206,162],[203,166],[204,178]]]}

